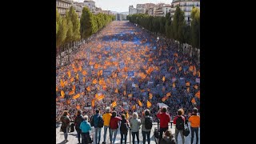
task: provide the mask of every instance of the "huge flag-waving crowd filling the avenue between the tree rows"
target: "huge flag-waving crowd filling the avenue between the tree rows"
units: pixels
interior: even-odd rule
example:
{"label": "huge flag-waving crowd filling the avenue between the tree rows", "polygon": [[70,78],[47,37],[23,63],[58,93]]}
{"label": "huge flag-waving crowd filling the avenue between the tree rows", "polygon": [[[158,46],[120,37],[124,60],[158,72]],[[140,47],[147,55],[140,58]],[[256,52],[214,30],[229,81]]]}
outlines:
{"label": "huge flag-waving crowd filling the avenue between the tree rows", "polygon": [[139,118],[149,109],[154,122],[161,102],[171,119],[180,108],[186,117],[200,110],[200,63],[130,22],[111,22],[70,59],[56,70],[57,122],[63,110],[74,121],[77,110],[90,118],[108,106]]}

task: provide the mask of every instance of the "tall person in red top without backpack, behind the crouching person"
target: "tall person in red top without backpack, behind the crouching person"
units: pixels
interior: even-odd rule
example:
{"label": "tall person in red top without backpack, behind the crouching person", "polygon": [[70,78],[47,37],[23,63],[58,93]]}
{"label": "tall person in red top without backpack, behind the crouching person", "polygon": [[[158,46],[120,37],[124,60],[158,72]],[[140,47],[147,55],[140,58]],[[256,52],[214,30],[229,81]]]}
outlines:
{"label": "tall person in red top without backpack, behind the crouching person", "polygon": [[168,123],[170,122],[170,114],[166,114],[167,108],[163,106],[162,109],[159,110],[157,117],[160,119],[160,138],[159,142],[162,139],[162,133],[168,130]]}

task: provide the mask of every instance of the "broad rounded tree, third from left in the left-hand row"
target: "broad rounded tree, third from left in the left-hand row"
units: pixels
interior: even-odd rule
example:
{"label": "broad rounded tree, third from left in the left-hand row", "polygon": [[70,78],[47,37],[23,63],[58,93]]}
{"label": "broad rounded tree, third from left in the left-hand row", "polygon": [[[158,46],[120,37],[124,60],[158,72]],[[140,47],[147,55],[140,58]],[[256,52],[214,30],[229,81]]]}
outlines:
{"label": "broad rounded tree, third from left in the left-hand row", "polygon": [[93,27],[93,14],[90,10],[85,6],[82,9],[82,15],[80,18],[80,33],[81,38],[88,38],[92,34],[92,27]]}

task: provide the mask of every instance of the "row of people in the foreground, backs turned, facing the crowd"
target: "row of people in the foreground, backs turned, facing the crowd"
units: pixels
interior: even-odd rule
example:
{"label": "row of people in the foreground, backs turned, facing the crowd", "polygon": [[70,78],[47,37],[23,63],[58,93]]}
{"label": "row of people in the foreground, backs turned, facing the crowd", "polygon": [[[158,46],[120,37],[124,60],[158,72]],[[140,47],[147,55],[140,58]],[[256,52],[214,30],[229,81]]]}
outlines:
{"label": "row of people in the foreground, backs turned, facing the crowd", "polygon": [[[65,110],[62,117],[62,126],[61,130],[64,132],[65,142],[68,142],[68,131],[70,128],[70,118],[68,112]],[[176,144],[178,143],[178,134],[182,137],[182,143],[185,143],[183,130],[187,122],[190,122],[191,130],[191,144],[194,141],[194,133],[196,134],[196,143],[198,144],[198,127],[200,126],[200,117],[198,116],[198,109],[194,107],[192,115],[189,118],[183,117],[184,110],[179,109],[177,115],[174,118],[175,125],[175,135],[172,134],[170,127],[168,126],[170,122],[170,114],[167,112],[167,108],[163,106],[157,114],[160,122],[160,129],[157,131],[159,134],[154,134],[158,138],[157,142],[160,144]],[[88,115],[82,114],[82,110],[78,110],[74,126],[78,134],[78,143],[89,144],[94,139],[95,144],[101,143],[101,130],[104,129],[104,135],[102,144],[110,143],[114,144],[118,130],[121,134],[121,144],[124,141],[126,144],[126,138],[128,131],[130,129],[132,135],[133,144],[139,143],[139,134],[141,130],[142,142],[143,144],[150,144],[150,133],[153,125],[153,118],[151,117],[150,110],[144,110],[142,112],[142,118],[138,117],[138,113],[134,112],[132,117],[127,118],[126,113],[121,116],[117,115],[116,111],[110,110],[110,107],[106,107],[105,113],[101,114],[100,110],[96,109],[94,115],[91,118],[88,118]],[[91,138],[91,130],[94,126],[94,138]],[[109,130],[107,130],[109,129]],[[110,142],[106,142],[106,133],[110,133]],[[163,136],[164,133],[164,136]],[[157,135],[157,136],[156,136]],[[135,142],[135,138],[137,142]]]}

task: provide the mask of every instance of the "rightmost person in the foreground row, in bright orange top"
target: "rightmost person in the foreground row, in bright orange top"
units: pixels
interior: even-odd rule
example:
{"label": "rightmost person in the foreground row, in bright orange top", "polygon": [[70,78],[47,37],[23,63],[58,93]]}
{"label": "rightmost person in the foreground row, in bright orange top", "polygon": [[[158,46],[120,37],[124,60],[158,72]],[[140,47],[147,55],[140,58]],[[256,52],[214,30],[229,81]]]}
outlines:
{"label": "rightmost person in the foreground row, in bright orange top", "polygon": [[198,144],[198,129],[200,126],[200,116],[198,115],[198,109],[194,107],[193,113],[189,118],[190,130],[191,130],[191,144],[194,140],[194,133],[196,136],[196,144]]}

